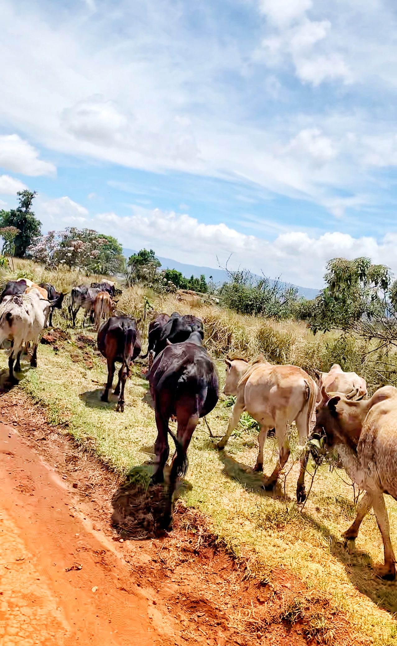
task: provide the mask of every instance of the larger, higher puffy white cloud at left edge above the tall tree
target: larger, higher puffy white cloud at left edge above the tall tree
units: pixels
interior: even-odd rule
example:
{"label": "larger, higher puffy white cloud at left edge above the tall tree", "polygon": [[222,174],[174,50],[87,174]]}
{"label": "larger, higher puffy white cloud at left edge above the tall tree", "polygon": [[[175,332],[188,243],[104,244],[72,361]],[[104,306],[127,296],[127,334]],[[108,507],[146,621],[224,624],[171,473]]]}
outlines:
{"label": "larger, higher puffy white cloud at left edge above the tall tree", "polygon": [[32,177],[56,174],[54,164],[39,159],[36,148],[17,134],[0,136],[0,166]]}

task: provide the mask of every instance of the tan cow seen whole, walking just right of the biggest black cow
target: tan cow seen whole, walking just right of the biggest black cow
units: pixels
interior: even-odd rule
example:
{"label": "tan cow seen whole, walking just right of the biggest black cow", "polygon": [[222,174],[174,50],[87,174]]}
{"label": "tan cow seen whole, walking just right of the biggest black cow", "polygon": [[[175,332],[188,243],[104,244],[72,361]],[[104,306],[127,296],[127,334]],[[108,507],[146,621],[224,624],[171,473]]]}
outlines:
{"label": "tan cow seen whole, walking just right of the biggest black cow", "polygon": [[[259,432],[259,453],[255,471],[263,469],[263,445],[268,430],[275,428],[279,443],[279,460],[264,486],[272,487],[288,460],[288,425],[295,421],[299,439],[308,437],[309,424],[317,398],[316,382],[297,366],[275,366],[263,359],[253,364],[242,359],[226,359],[225,395],[237,395],[226,435],[218,443],[218,448],[226,446],[231,433],[235,430],[241,413],[247,411],[261,426]],[[301,472],[297,483],[297,499],[305,500],[305,468],[307,456],[303,453]]]}

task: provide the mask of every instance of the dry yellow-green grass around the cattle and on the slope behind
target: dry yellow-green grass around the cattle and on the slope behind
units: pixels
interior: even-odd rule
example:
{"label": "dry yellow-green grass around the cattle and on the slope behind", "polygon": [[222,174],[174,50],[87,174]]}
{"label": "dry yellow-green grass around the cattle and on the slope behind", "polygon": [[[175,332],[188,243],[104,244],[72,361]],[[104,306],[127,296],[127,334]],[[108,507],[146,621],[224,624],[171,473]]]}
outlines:
{"label": "dry yellow-green grass around the cattle and on the slope behind", "polygon": [[[69,272],[48,275],[33,264],[18,261],[17,271],[30,271],[38,280],[52,280],[57,287],[69,287],[80,277]],[[90,278],[87,279],[89,282]],[[145,299],[160,311],[177,309],[202,317],[206,344],[217,361],[221,384],[224,380],[224,354],[250,358],[263,351],[277,362],[294,362],[304,368],[328,368],[334,361],[370,377],[372,389],[380,379],[372,355],[365,355],[354,340],[338,335],[314,337],[305,326],[295,322],[274,324],[237,316],[215,305],[200,302],[191,295],[167,295],[160,299],[139,288],[124,291],[118,307],[141,318],[145,337]],[[82,318],[78,318],[79,324]],[[156,437],[155,417],[147,403],[147,382],[138,363],[127,382],[125,413],[116,413],[116,397],[109,404],[100,401],[106,380],[106,366],[94,347],[79,339],[61,314],[54,315],[54,326],[68,329],[70,340],[57,343],[58,349],[40,345],[38,368],[23,364],[18,386],[35,401],[47,407],[49,421],[62,432],[70,433],[87,450],[95,453],[110,468],[126,475],[153,457]],[[85,329],[92,339],[94,331]],[[145,347],[145,346],[144,346]],[[0,368],[6,371],[6,355],[0,353]],[[384,366],[382,366],[382,369]],[[226,430],[230,402],[224,398],[208,415],[209,426],[220,437]],[[355,515],[354,491],[343,470],[323,464],[317,470],[310,498],[301,510],[295,502],[299,447],[292,427],[292,457],[274,494],[261,490],[261,476],[252,474],[257,441],[247,419],[230,439],[226,452],[215,448],[204,423],[197,427],[189,446],[189,470],[181,495],[213,519],[213,531],[237,557],[247,559],[248,570],[261,578],[274,567],[292,569],[313,594],[329,594],[334,608],[343,610],[375,645],[397,643],[397,612],[394,583],[374,577],[370,564],[383,558],[380,532],[374,516],[368,516],[356,541],[357,552],[350,555],[342,545],[341,532]],[[277,446],[268,439],[264,453],[264,473],[275,464]],[[313,473],[314,466],[309,470]],[[310,477],[307,479],[310,485]],[[357,492],[356,492],[357,493]],[[391,537],[397,545],[397,503],[388,498]],[[333,643],[322,641],[321,643]]]}

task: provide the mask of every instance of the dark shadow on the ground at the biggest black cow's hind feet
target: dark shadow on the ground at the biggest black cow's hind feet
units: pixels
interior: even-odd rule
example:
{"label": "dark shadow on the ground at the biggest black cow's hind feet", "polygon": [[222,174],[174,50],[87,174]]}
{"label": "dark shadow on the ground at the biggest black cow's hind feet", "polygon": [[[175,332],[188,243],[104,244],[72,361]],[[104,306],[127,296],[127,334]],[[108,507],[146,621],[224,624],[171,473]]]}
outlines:
{"label": "dark shadow on the ground at the biggest black cow's hind feet", "polygon": [[[169,487],[169,466],[164,468],[164,483],[151,484],[153,464],[134,466],[112,498],[112,525],[123,539],[135,541],[164,535],[161,519]],[[188,481],[178,481],[174,501],[191,489]]]}

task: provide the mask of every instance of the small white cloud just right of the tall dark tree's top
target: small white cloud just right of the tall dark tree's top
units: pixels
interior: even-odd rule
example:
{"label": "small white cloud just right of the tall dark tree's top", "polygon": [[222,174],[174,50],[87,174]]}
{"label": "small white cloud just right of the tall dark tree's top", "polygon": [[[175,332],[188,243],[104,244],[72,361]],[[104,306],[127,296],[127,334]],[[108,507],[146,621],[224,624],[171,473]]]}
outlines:
{"label": "small white cloud just right of the tall dark tree's top", "polygon": [[67,196],[51,199],[38,195],[34,210],[43,224],[43,231],[67,226],[89,226],[87,209]]}

